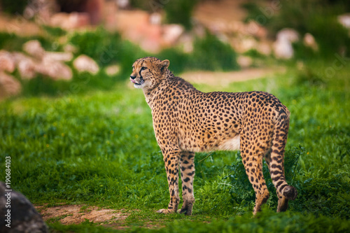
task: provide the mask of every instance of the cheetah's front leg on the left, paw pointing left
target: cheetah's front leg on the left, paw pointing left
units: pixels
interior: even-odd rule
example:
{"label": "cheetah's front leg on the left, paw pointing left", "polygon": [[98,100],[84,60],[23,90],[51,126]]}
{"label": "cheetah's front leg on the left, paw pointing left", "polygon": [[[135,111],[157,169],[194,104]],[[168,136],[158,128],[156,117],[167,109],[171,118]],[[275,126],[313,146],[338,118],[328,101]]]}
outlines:
{"label": "cheetah's front leg on the left, paw pointing left", "polygon": [[179,157],[180,150],[165,149],[162,150],[165,162],[165,170],[167,171],[167,179],[169,185],[170,202],[168,209],[160,209],[157,213],[176,213],[180,197],[179,197]]}

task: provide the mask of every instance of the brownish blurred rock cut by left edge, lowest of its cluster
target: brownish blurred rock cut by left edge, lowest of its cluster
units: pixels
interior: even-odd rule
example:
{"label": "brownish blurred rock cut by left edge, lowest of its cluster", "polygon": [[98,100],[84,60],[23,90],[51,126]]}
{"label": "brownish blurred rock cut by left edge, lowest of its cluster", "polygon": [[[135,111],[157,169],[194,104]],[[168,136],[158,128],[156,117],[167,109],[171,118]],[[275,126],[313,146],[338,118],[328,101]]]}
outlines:
{"label": "brownish blurred rock cut by left edge, lowest of its cluster", "polygon": [[0,99],[18,95],[21,90],[22,85],[18,80],[7,73],[0,71]]}

